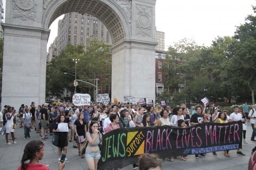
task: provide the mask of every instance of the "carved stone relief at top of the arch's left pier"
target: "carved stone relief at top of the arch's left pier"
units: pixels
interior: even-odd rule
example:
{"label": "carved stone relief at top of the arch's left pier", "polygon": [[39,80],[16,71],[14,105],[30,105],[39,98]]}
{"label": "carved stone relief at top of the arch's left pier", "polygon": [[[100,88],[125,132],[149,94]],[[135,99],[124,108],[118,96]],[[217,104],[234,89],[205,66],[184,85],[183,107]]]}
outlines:
{"label": "carved stone relief at top of the arch's left pier", "polygon": [[12,0],[13,18],[23,21],[35,21],[37,4],[34,0]]}

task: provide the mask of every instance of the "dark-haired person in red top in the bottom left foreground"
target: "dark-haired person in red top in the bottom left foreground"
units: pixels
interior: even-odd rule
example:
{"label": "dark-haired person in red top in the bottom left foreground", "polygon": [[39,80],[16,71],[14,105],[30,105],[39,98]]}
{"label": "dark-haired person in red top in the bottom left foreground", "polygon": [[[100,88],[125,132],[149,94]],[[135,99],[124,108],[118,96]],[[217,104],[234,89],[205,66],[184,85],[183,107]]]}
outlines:
{"label": "dark-haired person in red top in the bottom left foreground", "polygon": [[[21,166],[18,170],[50,170],[44,164],[40,164],[39,160],[44,156],[44,144],[42,141],[30,141],[24,148],[24,153],[21,159]],[[29,163],[25,163],[30,160]],[[59,170],[63,170],[65,163],[59,163]]]}

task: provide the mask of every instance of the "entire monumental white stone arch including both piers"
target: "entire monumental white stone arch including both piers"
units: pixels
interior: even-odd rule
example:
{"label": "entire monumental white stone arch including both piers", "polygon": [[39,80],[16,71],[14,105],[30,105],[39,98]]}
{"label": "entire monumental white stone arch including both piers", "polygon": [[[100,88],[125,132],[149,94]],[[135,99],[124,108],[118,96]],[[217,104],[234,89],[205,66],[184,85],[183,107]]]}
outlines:
{"label": "entire monumental white stone arch including both piers", "polygon": [[49,26],[69,12],[100,19],[113,40],[112,101],[155,98],[156,0],[7,0],[2,105],[45,102]]}

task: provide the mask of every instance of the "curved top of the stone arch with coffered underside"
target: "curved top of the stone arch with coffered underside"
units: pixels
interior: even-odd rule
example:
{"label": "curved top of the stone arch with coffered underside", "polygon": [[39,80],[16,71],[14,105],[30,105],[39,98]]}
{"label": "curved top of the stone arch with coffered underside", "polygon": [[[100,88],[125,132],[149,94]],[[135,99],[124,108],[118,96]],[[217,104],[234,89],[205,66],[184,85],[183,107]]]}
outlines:
{"label": "curved top of the stone arch with coffered underside", "polygon": [[[45,14],[42,18],[42,27],[48,29],[51,23],[60,15],[69,12],[88,13],[100,19],[109,30],[113,43],[128,40],[131,37],[129,27],[132,4],[118,3],[118,0],[59,0],[51,1],[44,6]],[[46,4],[45,4],[46,5]],[[126,7],[126,13],[121,7]]]}

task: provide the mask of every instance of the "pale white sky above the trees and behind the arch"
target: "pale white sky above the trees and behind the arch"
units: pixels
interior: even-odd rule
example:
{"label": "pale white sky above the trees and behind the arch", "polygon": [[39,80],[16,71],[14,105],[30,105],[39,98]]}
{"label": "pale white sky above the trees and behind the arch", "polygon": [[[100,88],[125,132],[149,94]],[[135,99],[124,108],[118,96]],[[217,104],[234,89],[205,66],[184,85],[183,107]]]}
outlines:
{"label": "pale white sky above the trees and behind the arch", "polygon": [[[210,46],[217,36],[233,36],[236,26],[253,13],[252,5],[256,6],[256,0],[156,0],[155,24],[158,31],[165,32],[166,50],[183,38]],[[57,36],[58,20],[62,17],[49,28],[47,51]]]}

